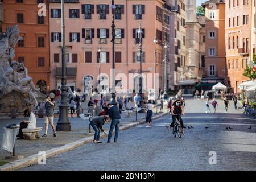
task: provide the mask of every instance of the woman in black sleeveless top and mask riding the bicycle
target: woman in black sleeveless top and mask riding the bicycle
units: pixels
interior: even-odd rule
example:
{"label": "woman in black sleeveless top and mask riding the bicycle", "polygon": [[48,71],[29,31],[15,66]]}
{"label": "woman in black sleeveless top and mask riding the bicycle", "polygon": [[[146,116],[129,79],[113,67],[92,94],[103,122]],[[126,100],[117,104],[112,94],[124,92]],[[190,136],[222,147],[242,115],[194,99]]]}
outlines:
{"label": "woman in black sleeveless top and mask riding the bicycle", "polygon": [[174,104],[172,105],[171,113],[172,113],[172,123],[170,125],[170,129],[171,127],[174,127],[174,123],[176,122],[176,119],[178,119],[181,125],[182,134],[184,134],[184,124],[181,118],[181,114],[185,115],[185,111],[183,109],[183,106],[181,106],[180,104],[180,100],[176,100],[174,102]]}

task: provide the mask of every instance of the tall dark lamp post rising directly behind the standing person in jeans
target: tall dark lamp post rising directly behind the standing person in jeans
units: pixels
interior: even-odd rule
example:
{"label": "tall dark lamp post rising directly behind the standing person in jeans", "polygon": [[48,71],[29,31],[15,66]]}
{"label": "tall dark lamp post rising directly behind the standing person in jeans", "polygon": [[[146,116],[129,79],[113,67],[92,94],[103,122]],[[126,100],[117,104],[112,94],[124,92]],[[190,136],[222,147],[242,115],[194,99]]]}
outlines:
{"label": "tall dark lamp post rising directly behind the standing person in jeans", "polygon": [[[112,0],[111,3],[111,9],[115,10],[115,4],[114,0]],[[114,14],[112,15],[112,90],[111,90],[111,96],[112,96],[112,104],[117,105],[117,102],[115,102],[115,22],[114,22]]]}

